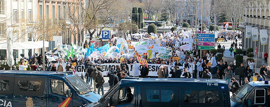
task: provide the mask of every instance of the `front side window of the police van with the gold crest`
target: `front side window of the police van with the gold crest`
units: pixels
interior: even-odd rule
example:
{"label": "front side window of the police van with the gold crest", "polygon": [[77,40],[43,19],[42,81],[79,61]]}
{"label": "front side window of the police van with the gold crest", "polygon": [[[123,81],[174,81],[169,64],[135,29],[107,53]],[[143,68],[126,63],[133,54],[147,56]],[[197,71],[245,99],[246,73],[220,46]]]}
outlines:
{"label": "front side window of the police van with the gold crest", "polygon": [[63,95],[63,96],[66,95],[66,91],[69,89],[66,83],[58,79],[51,79],[51,88],[52,88],[53,94],[58,94],[58,95]]}

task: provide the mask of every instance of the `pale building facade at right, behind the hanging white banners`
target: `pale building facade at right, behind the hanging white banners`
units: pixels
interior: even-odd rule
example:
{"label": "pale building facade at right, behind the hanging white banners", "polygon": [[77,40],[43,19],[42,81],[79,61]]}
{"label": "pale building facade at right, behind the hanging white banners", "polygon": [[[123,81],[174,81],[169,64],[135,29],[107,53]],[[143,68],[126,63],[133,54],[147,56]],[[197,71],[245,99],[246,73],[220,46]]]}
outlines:
{"label": "pale building facade at right, behind the hanging white banners", "polygon": [[[269,26],[270,26],[270,0],[243,0],[243,22],[239,23],[239,28],[243,32],[242,33],[242,49],[246,50],[248,48],[254,49],[255,54],[255,47],[257,47],[257,57],[264,57],[264,52],[268,52],[269,44]],[[258,29],[258,38],[259,41],[253,41],[253,39],[246,38],[247,37],[247,27],[257,27]],[[267,30],[267,37],[268,37],[268,45],[261,45],[260,42],[260,30],[266,29]],[[269,52],[268,52],[269,54]]]}

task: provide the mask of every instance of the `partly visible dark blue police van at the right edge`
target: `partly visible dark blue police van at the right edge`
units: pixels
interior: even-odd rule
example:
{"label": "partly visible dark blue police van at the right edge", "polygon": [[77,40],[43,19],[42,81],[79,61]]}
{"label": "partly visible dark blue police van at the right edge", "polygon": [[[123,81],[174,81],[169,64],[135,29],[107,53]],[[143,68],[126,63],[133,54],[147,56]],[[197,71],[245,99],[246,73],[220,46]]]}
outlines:
{"label": "partly visible dark blue police van at the right edge", "polygon": [[270,84],[268,81],[245,83],[232,95],[231,107],[270,107]]}

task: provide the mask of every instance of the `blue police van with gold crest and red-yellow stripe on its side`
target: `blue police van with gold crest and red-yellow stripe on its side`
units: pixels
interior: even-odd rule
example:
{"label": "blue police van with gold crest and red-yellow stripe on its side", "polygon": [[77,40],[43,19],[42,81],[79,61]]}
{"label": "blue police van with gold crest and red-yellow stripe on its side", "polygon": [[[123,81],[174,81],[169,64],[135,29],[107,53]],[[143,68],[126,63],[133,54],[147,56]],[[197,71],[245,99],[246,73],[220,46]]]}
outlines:
{"label": "blue police van with gold crest and red-yellow stripe on its side", "polygon": [[100,98],[73,72],[0,71],[1,107],[76,107]]}

